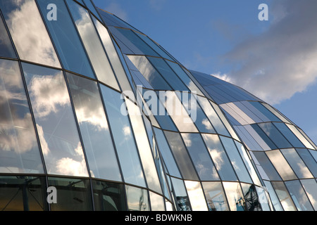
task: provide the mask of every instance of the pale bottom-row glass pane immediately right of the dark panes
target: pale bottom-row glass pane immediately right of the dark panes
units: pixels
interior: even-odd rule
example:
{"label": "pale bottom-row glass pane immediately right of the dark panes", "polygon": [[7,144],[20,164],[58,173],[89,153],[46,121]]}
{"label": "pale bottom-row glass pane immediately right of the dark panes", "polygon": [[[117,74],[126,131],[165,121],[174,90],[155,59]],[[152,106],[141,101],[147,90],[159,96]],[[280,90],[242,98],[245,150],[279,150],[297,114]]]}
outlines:
{"label": "pale bottom-row glass pane immediately right of the dark panes", "polygon": [[147,190],[133,186],[125,186],[129,211],[149,211]]}

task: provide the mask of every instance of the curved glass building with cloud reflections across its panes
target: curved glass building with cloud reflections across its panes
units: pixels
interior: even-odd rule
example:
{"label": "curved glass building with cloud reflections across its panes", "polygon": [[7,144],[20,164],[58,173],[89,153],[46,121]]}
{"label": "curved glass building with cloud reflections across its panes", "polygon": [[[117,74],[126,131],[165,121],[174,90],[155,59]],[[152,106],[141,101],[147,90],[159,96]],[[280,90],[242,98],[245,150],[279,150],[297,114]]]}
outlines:
{"label": "curved glass building with cloud reflections across its panes", "polygon": [[317,147],[271,105],[92,1],[0,10],[0,210],[317,210]]}

